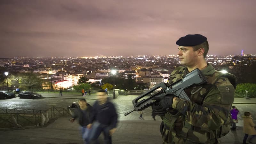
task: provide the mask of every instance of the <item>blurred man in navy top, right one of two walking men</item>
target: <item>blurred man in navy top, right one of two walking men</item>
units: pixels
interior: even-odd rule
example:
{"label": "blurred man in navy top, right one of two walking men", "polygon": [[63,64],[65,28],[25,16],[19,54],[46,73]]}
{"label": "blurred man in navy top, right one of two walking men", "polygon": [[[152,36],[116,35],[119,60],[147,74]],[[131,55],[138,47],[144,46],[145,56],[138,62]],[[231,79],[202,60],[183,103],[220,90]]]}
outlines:
{"label": "blurred man in navy top, right one of two walking men", "polygon": [[105,144],[112,144],[111,136],[116,132],[117,125],[116,108],[104,90],[99,90],[97,94],[98,100],[92,106],[93,114],[87,126],[92,129],[89,144],[97,143],[101,132],[104,133]]}

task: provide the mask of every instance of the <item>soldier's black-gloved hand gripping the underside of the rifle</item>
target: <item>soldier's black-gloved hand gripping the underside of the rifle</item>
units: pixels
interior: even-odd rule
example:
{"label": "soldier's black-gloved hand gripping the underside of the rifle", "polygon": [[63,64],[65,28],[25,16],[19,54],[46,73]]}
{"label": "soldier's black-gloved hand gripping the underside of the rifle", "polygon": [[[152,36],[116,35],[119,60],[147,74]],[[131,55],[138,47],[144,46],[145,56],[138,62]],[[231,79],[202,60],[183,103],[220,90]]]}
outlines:
{"label": "soldier's black-gloved hand gripping the underside of the rifle", "polygon": [[172,108],[174,96],[165,96],[164,98],[161,97],[154,97],[152,100],[156,100],[156,102],[152,109],[155,109],[156,115],[163,116],[166,113],[166,110]]}

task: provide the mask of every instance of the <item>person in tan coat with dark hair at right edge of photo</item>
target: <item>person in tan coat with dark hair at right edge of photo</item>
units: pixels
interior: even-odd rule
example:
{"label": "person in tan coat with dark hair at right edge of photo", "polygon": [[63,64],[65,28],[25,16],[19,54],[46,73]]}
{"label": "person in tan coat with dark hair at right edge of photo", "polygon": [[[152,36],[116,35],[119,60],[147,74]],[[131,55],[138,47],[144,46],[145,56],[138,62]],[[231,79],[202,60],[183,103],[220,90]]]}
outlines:
{"label": "person in tan coat with dark hair at right edge of photo", "polygon": [[255,124],[252,121],[252,114],[248,111],[244,112],[244,116],[242,116],[244,119],[244,140],[243,144],[246,144],[246,140],[249,135],[252,135],[252,137],[249,139],[249,142],[252,143],[252,139],[256,136],[256,130],[255,130]]}

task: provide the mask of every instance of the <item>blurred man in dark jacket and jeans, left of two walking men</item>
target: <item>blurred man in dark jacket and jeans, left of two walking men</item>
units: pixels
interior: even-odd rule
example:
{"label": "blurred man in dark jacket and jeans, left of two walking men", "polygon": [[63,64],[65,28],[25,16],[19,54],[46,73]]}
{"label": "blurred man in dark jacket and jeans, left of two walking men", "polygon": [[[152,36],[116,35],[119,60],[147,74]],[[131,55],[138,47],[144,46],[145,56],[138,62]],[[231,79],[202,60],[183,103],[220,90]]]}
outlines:
{"label": "blurred man in dark jacket and jeans, left of two walking men", "polygon": [[89,105],[85,99],[78,100],[78,105],[80,106],[74,111],[70,122],[73,123],[76,119],[78,119],[80,125],[80,131],[82,134],[82,138],[87,144],[90,137],[90,129],[87,129],[87,125],[90,122],[90,116],[92,115],[92,106]]}

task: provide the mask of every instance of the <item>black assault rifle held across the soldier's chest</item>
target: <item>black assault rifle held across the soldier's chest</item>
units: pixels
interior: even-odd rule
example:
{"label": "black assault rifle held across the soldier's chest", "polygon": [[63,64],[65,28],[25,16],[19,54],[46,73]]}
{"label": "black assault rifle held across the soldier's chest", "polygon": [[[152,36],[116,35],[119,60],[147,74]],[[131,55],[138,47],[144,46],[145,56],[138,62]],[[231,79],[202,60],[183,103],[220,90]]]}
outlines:
{"label": "black assault rifle held across the soldier's chest", "polygon": [[[163,82],[157,84],[152,89],[144,92],[143,94],[132,100],[134,109],[125,113],[124,116],[129,115],[133,111],[141,111],[145,108],[152,106],[154,103],[156,103],[156,100],[152,100],[154,97],[160,97],[160,99],[162,99],[164,96],[167,95],[175,95],[176,97],[190,101],[184,89],[192,85],[204,84],[206,82],[206,77],[198,68],[196,68],[195,70],[188,73],[185,78],[180,79],[179,81],[170,84],[169,86]],[[158,89],[160,89],[161,91],[157,91]],[[142,99],[146,96],[148,96],[148,98]]]}

